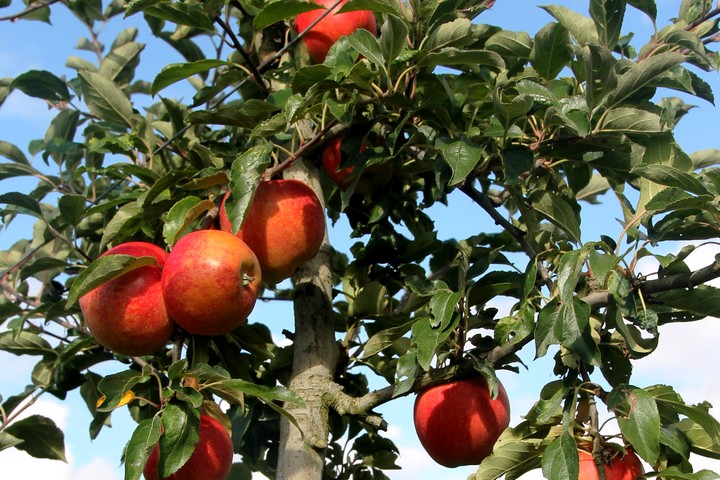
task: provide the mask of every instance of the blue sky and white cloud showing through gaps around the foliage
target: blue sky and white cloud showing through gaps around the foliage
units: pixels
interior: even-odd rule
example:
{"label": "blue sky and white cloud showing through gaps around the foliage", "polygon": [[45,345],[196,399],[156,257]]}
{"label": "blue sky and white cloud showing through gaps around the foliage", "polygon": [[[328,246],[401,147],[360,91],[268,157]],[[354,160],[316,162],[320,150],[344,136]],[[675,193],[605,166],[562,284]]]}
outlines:
{"label": "blue sky and white cloud showing through gaps around the foliage", "polygon": [[[14,5],[0,10],[0,15],[6,11],[19,10],[20,2],[15,0]],[[544,3],[557,3],[576,8],[586,8],[585,1],[566,0],[556,2],[535,2],[526,0],[497,0],[494,8],[481,15],[480,20],[487,23],[501,25],[509,30],[526,30],[533,34],[551,18],[536,5]],[[662,26],[677,9],[679,1],[659,0],[660,13],[658,22]],[[8,12],[9,13],[9,12]],[[118,19],[119,20],[119,19]],[[116,33],[130,25],[137,25],[139,18],[131,18],[128,23],[113,21],[105,27],[101,38],[110,44]],[[64,9],[55,9],[53,14],[54,26],[38,22],[0,23],[0,78],[14,77],[29,69],[45,69],[56,74],[74,75],[74,71],[64,67],[69,55],[82,56],[94,60],[93,54],[77,51],[73,48],[77,40],[84,35],[78,29],[79,23],[65,12]],[[651,24],[641,13],[629,9],[624,31],[637,33],[636,39],[643,41],[650,33]],[[147,43],[142,54],[142,63],[138,77],[152,80],[160,69],[170,62],[180,61],[177,54],[165,47],[161,42],[154,41],[149,35],[141,33],[140,42]],[[713,85],[716,93],[720,92],[720,77],[717,74],[704,75]],[[165,95],[187,95],[185,86],[177,86],[163,92]],[[720,148],[718,138],[717,119],[718,109],[702,100],[688,100],[698,105],[683,119],[677,130],[680,145],[687,151],[693,152],[704,148]],[[50,119],[54,116],[48,111],[43,102],[24,96],[20,92],[13,93],[0,108],[0,140],[10,141],[27,152],[27,144],[31,139],[42,138]],[[29,154],[28,154],[29,156]],[[34,160],[37,166],[42,160]],[[5,182],[7,183],[7,182]],[[4,184],[0,190],[20,190],[30,188],[34,182],[18,180],[10,187]],[[2,190],[4,191],[4,190]],[[473,222],[467,222],[467,212],[476,211],[481,219],[480,227]],[[583,227],[589,227],[587,238],[597,237],[599,233],[617,236],[618,224],[613,220],[619,216],[612,207],[588,207],[583,212]],[[489,219],[483,217],[482,212],[471,205],[464,197],[454,195],[449,207],[438,205],[433,207],[433,217],[441,238],[465,238],[478,232],[478,228],[494,229]],[[601,219],[600,221],[598,219]],[[32,221],[18,221],[11,228],[0,230],[0,249],[6,249],[21,236],[27,235]],[[330,240],[334,245],[343,247],[347,242],[347,227],[342,222],[330,232]],[[677,245],[679,248],[681,245]],[[695,266],[704,266],[718,253],[717,248],[707,247],[700,249],[691,256],[690,261]],[[524,260],[523,260],[524,262]],[[522,265],[524,267],[524,263]],[[652,268],[650,265],[648,269]],[[648,270],[649,271],[649,270]],[[509,303],[498,299],[498,308],[506,311]],[[262,303],[256,307],[251,315],[251,321],[267,323],[273,332],[280,332],[283,328],[292,328],[289,322],[278,319],[291,318],[289,305],[284,302]],[[690,326],[665,327],[661,330],[661,346],[658,352],[636,365],[633,381],[638,386],[654,383],[672,383],[685,397],[686,401],[698,402],[703,399],[720,406],[720,372],[714,368],[698,370],[691,367],[697,359],[704,359],[707,365],[712,366],[720,360],[720,353],[716,348],[716,339],[720,338],[720,321],[707,319]],[[692,351],[686,345],[692,344]],[[522,370],[516,375],[501,372],[500,376],[508,390],[513,410],[513,424],[520,420],[532,402],[537,398],[539,389],[545,383],[553,380],[552,370],[548,366],[552,354],[548,358],[532,362],[534,351],[532,346],[526,347],[521,356],[528,365],[528,370]],[[15,357],[0,352],[0,365],[5,366],[0,375],[0,395],[7,397],[20,391],[29,383],[30,371],[33,366],[32,358]],[[111,373],[113,369],[120,370],[120,365],[107,364],[101,373]],[[379,410],[390,424],[388,435],[396,441],[401,450],[399,463],[404,467],[398,472],[390,472],[393,480],[410,480],[433,478],[434,480],[466,478],[473,472],[472,467],[448,470],[435,465],[422,451],[412,428],[412,397],[396,400],[384,405]],[[718,407],[720,408],[720,407]],[[718,408],[714,409],[717,415]],[[52,397],[41,399],[30,409],[30,413],[39,413],[50,416],[65,430],[69,463],[41,461],[27,457],[22,452],[6,450],[0,453],[0,471],[4,478],[39,479],[51,477],[55,480],[89,480],[102,478],[103,480],[119,480],[122,478],[120,455],[122,448],[134,428],[134,423],[124,410],[117,411],[113,416],[113,428],[105,429],[94,442],[89,440],[87,428],[90,415],[74,392],[68,401],[60,402]],[[720,462],[703,460],[698,465],[714,468],[720,471]],[[532,473],[523,478],[542,478],[539,472]]]}

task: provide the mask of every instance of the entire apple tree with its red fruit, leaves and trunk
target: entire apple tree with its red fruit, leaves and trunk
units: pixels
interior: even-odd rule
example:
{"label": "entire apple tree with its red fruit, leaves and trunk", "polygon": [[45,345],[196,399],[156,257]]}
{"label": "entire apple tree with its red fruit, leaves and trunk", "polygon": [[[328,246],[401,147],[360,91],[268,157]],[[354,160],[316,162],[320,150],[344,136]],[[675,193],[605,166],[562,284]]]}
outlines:
{"label": "entire apple tree with its red fruit, leaves and trunk", "polygon": [[[0,133],[2,220],[35,221],[0,252],[0,350],[35,363],[0,450],[64,460],[22,414],[77,390],[92,438],[137,422],[126,480],[384,479],[376,410],[412,395],[428,457],[473,479],[720,478],[691,461],[720,459],[711,405],[632,377],[663,325],[720,315],[720,260],[686,262],[720,237],[720,150],[673,133],[714,101],[720,6],[546,5],[526,33],[486,24],[494,3],[0,0],[0,25],[70,10],[92,59],[0,79],[0,108],[54,115],[29,145]],[[136,78],[147,42],[183,61]],[[431,208],[458,197],[474,234],[443,240]],[[616,233],[588,233],[598,202]],[[292,302],[284,341],[260,301]],[[552,380],[511,424],[495,372],[521,350]]]}

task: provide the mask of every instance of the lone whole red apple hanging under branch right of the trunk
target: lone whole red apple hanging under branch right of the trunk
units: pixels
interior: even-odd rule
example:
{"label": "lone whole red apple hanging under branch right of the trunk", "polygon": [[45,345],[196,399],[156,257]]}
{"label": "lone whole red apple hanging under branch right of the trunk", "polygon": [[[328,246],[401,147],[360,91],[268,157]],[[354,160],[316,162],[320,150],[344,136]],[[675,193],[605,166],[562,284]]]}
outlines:
{"label": "lone whole red apple hanging under branch right of the trunk", "polygon": [[415,399],[415,431],[430,457],[445,467],[478,465],[510,425],[510,402],[502,384],[490,398],[482,377],[430,387]]}

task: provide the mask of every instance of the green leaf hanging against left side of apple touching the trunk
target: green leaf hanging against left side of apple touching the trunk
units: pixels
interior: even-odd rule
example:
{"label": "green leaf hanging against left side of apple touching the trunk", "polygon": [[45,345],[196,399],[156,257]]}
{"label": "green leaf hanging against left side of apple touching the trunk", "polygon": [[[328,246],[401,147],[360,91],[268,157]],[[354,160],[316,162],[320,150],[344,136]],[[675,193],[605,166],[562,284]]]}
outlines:
{"label": "green leaf hanging against left side of apple touching the trunk", "polygon": [[238,155],[230,170],[230,196],[225,201],[232,231],[237,233],[245,220],[262,174],[270,164],[270,146],[261,143]]}

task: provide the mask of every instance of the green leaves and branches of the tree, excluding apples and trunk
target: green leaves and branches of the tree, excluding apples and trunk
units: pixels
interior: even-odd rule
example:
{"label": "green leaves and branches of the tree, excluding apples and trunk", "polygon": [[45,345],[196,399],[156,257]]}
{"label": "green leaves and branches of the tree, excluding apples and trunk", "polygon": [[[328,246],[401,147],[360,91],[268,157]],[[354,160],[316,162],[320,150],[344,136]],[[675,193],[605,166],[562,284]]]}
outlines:
{"label": "green leaves and branches of the tree, excluding apples and trunk", "polygon": [[[139,478],[161,425],[172,452],[165,471],[179,468],[197,441],[201,407],[232,425],[243,462],[237,478],[273,478],[280,421],[296,421],[284,406],[303,398],[286,388],[292,347],[273,342],[265,319],[127,358],[94,342],[76,300],[142,264],[93,263],[110,246],[144,240],[171,249],[216,222],[227,189],[239,225],[263,175],[305,162],[322,183],[329,218],[345,217],[357,239],[350,252],[332,251],[335,386],[368,401],[361,411],[330,411],[329,475],[386,478],[382,471],[396,468],[396,447],[370,421],[373,407],[449,375],[475,372],[493,384],[494,369],[517,368],[515,353],[534,344],[537,357],[557,352],[557,380],[503,434],[476,478],[534,468],[569,478],[576,445],[605,446],[596,401],[658,475],[708,478],[688,458],[720,458],[709,405],[686,404],[670,385],[633,385],[631,374],[632,361],[657,347],[660,325],[720,310],[717,289],[701,285],[719,275],[716,260],[692,272],[692,247],[654,253],[664,242],[720,231],[720,155],[682,150],[673,129],[690,106],[663,96],[713,102],[702,75],[718,68],[710,47],[719,12],[683,0],[677,18],[636,49],[623,30],[626,10],[655,25],[653,0],[590,0],[586,14],[548,5],[552,21],[534,35],[484,24],[492,3],[351,1],[345,9],[377,14],[378,37],[357,31],[320,65],[309,64],[288,26],[307,10],[299,0],[50,1],[5,17],[49,22],[68,8],[89,32],[78,48],[98,62],[69,58],[71,78],[32,70],[0,80],[0,105],[20,91],[57,112],[45,137],[27,146],[57,173],[34,166],[11,139],[0,142],[3,221],[37,219],[28,238],[0,254],[0,349],[37,359],[32,385],[3,399],[0,449],[63,459],[52,421],[15,417],[41,394],[62,399],[80,389],[93,438],[125,405],[138,422],[126,479]],[[140,16],[155,38],[128,28],[104,39],[107,47],[98,41],[104,23]],[[137,79],[140,40],[166,42],[185,61]],[[194,88],[191,100],[164,95],[183,81]],[[336,136],[342,166],[356,167],[347,190],[315,168]],[[363,185],[382,165],[387,178]],[[7,185],[20,176],[37,178],[35,189],[12,191]],[[582,208],[605,192],[622,209],[623,234],[587,238]],[[457,194],[477,205],[469,217],[477,234],[441,241],[428,209]],[[486,230],[488,219],[500,233]],[[662,266],[654,278],[636,272],[645,256]],[[264,295],[280,301],[288,289],[266,285]],[[516,303],[498,317],[492,301],[500,295]],[[109,359],[126,369],[101,377],[94,367]],[[390,389],[369,392],[357,366]],[[220,399],[229,409],[217,407]]]}

